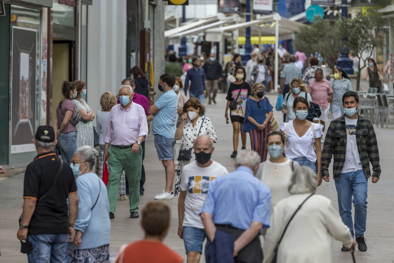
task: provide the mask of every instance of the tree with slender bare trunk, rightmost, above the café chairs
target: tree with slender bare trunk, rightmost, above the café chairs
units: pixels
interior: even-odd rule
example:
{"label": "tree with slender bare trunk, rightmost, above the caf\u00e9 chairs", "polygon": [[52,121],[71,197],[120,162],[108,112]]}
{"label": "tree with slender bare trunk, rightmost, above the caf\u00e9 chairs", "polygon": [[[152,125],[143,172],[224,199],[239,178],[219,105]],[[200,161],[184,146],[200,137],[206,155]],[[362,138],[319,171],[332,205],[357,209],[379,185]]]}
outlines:
{"label": "tree with slender bare trunk, rightmost, above the caf\u00e9 chairs", "polygon": [[[387,26],[388,20],[382,18],[382,15],[376,11],[369,11],[366,14],[358,12],[353,19],[342,18],[337,21],[336,34],[341,39],[347,39],[342,46],[351,50],[351,54],[360,60],[357,90],[360,90],[361,69],[367,65],[366,61],[372,56],[374,48],[384,45],[384,39],[379,33]],[[368,56],[363,58],[363,54],[368,54]],[[364,62],[362,67],[361,62]]]}

